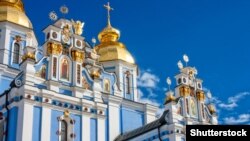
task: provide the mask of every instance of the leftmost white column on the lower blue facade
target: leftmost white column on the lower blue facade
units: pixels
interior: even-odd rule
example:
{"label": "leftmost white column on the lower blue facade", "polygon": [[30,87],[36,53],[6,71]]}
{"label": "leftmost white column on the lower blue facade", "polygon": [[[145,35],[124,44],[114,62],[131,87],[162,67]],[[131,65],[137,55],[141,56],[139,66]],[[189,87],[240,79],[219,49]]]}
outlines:
{"label": "leftmost white column on the lower blue facade", "polygon": [[33,105],[24,103],[23,113],[22,138],[17,138],[17,140],[32,141]]}

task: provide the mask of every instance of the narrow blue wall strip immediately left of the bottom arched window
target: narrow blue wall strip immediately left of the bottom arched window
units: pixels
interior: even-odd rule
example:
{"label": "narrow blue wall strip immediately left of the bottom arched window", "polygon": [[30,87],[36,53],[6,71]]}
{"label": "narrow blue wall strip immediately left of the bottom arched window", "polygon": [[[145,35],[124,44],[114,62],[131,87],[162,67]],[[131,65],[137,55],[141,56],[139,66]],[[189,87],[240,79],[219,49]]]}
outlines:
{"label": "narrow blue wall strip immediately left of the bottom arched window", "polygon": [[50,140],[56,141],[58,140],[58,135],[56,134],[59,129],[59,122],[57,120],[57,117],[60,117],[63,115],[63,112],[52,110],[51,111],[51,133],[50,133]]}

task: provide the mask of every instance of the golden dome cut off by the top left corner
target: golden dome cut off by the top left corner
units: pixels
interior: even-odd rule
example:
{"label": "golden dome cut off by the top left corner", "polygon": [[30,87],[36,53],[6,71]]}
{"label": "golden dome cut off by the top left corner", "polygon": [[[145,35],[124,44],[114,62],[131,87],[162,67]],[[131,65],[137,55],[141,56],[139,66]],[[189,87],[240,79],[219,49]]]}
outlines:
{"label": "golden dome cut off by the top left corner", "polygon": [[8,21],[27,28],[32,28],[26,16],[22,0],[0,0],[0,22]]}

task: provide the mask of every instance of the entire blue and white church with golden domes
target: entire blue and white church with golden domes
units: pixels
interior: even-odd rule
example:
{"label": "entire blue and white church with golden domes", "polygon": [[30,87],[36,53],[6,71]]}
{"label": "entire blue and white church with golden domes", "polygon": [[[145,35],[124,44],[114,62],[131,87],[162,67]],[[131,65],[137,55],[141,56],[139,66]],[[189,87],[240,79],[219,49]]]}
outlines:
{"label": "entire blue and white church with golden domes", "polygon": [[104,7],[97,44],[65,18],[38,43],[22,0],[0,0],[0,141],[185,141],[185,125],[217,124],[193,67],[179,66],[161,117],[140,102],[138,66]]}

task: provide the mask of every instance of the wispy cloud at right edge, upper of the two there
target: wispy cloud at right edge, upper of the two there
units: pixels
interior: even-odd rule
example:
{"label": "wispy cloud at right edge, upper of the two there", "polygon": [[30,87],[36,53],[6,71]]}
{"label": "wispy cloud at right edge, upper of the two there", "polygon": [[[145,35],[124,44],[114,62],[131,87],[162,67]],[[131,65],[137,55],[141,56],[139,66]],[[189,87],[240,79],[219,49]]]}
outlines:
{"label": "wispy cloud at right edge, upper of the two there", "polygon": [[235,96],[229,97],[227,103],[222,103],[221,101],[218,101],[218,106],[226,110],[233,110],[234,108],[238,107],[238,101],[248,95],[250,95],[249,92],[239,93]]}

